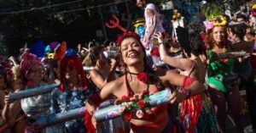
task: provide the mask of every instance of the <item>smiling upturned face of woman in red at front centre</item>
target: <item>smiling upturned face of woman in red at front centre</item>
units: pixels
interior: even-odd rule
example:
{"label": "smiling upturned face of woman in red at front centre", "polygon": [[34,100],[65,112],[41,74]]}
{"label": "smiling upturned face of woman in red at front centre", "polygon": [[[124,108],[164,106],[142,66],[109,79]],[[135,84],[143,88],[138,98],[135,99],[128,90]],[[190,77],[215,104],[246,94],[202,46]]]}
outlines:
{"label": "smiling upturned face of woman in red at front centre", "polygon": [[143,65],[143,58],[145,53],[143,46],[137,39],[133,37],[127,37],[121,42],[121,53],[124,63],[127,66]]}

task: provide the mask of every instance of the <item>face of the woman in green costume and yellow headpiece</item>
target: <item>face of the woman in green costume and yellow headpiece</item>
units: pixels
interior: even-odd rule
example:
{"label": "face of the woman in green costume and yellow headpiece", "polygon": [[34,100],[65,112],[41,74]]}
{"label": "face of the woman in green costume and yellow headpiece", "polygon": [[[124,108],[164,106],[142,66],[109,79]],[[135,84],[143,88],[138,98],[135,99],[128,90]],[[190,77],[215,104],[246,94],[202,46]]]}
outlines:
{"label": "face of the woman in green costume and yellow headpiece", "polygon": [[215,26],[212,29],[212,38],[214,42],[220,43],[223,42],[225,39],[225,30],[223,26]]}

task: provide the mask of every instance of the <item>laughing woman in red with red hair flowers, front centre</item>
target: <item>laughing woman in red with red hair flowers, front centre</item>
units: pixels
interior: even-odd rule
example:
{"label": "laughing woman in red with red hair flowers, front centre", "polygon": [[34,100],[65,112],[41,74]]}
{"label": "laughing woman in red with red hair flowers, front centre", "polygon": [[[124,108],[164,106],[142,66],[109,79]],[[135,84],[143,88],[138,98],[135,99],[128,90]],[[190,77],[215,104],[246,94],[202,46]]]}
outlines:
{"label": "laughing woman in red with red hair flowers, front centre", "polygon": [[[178,75],[173,71],[157,70],[154,71],[147,64],[146,53],[143,44],[140,42],[140,36],[134,32],[126,32],[119,36],[118,44],[120,46],[121,57],[125,64],[125,75],[109,82],[102,88],[99,95],[90,97],[86,103],[87,113],[86,126],[90,132],[95,132],[94,127],[99,123],[95,118],[90,117],[98,107],[99,103],[108,97],[117,97],[120,101],[122,97],[132,100],[144,99],[149,94],[164,90],[174,86],[183,86],[183,91],[173,91],[171,104],[180,103],[184,99],[194,96],[204,91],[205,87],[197,80]],[[144,92],[143,92],[144,91]],[[126,99],[126,100],[127,100]],[[167,113],[167,105],[145,109],[143,103],[138,102],[142,107],[131,112],[131,117],[126,118],[131,123],[131,132],[178,132],[178,129],[172,126]],[[126,107],[126,105],[125,105]],[[129,108],[129,105],[127,105]],[[89,122],[92,120],[92,123]]]}

